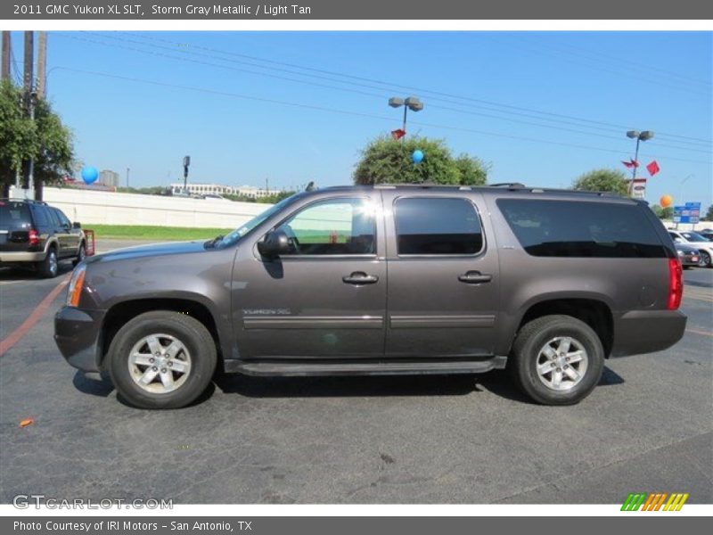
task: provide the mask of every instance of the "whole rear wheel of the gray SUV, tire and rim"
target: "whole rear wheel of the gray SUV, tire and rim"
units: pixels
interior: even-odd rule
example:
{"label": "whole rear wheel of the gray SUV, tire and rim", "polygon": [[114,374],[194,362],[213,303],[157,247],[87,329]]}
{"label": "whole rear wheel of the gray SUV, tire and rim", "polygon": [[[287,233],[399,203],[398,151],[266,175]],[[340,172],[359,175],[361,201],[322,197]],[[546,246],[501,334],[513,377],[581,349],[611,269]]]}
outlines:
{"label": "whole rear wheel of the gray SUV, tire and rim", "polygon": [[604,350],[599,336],[583,321],[544,316],[522,327],[508,366],[530,398],[545,405],[572,405],[599,383]]}

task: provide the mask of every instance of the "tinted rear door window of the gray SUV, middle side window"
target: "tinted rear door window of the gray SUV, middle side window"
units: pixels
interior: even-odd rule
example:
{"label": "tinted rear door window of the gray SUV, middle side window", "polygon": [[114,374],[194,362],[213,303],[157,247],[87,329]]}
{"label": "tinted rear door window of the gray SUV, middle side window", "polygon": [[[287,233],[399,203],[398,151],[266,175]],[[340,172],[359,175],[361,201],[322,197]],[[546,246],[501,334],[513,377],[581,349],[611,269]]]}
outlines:
{"label": "tinted rear door window of the gray SUV, middle side window", "polygon": [[478,214],[466,199],[399,199],[395,219],[398,254],[475,254],[483,248]]}

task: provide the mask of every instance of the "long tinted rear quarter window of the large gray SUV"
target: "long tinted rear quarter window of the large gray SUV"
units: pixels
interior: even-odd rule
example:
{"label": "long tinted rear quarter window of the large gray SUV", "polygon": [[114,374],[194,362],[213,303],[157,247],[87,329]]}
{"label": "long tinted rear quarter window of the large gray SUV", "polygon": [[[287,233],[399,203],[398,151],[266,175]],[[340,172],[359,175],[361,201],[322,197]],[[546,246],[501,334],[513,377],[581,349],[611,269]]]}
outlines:
{"label": "long tinted rear quarter window of the large gray SUV", "polygon": [[635,205],[499,199],[497,206],[533,256],[666,256],[652,224]]}

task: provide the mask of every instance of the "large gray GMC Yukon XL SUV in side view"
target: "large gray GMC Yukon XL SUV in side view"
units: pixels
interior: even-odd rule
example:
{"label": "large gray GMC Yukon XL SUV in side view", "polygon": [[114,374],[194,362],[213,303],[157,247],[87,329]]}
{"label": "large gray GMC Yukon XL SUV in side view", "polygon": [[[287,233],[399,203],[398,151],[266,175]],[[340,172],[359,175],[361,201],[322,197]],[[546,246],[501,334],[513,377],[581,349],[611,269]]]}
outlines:
{"label": "large gray GMC Yukon XL SUV in side view", "polygon": [[471,374],[576,403],[605,358],[684,334],[674,244],[645,202],[523,185],[333,187],[225,237],[94,256],[55,317],[62,355],[137,407],[216,369]]}

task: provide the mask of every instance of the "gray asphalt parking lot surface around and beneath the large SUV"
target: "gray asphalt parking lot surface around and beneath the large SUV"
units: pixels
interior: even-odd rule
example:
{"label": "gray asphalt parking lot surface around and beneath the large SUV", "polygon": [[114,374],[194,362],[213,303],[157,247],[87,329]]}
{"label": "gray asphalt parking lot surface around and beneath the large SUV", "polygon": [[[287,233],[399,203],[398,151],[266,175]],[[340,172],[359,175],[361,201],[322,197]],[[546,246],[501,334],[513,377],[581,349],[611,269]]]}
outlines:
{"label": "gray asphalt parking lot surface around and beneath the large SUV", "polygon": [[[713,503],[713,269],[684,277],[684,340],[609,360],[574,407],[533,405],[491,372],[231,375],[192,407],[137,410],[61,358],[61,292],[0,358],[0,502],[620,504],[676,491]],[[60,280],[0,271],[0,339]]]}

